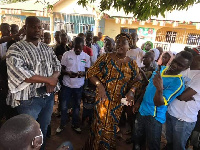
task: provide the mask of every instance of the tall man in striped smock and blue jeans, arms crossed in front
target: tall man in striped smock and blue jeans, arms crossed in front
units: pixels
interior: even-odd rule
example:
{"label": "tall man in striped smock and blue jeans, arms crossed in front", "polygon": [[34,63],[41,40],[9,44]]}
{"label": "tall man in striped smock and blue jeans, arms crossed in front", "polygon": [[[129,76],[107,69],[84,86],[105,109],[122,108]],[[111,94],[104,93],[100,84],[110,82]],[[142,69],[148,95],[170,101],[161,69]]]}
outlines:
{"label": "tall man in striped smock and blue jeans, arms crossed in front", "polygon": [[[13,44],[7,52],[9,95],[7,104],[17,107],[39,123],[44,135],[51,121],[54,92],[59,89],[61,65],[53,50],[39,42],[41,22],[30,16],[25,21],[26,40]],[[44,144],[41,149],[44,149]]]}

